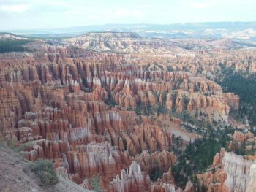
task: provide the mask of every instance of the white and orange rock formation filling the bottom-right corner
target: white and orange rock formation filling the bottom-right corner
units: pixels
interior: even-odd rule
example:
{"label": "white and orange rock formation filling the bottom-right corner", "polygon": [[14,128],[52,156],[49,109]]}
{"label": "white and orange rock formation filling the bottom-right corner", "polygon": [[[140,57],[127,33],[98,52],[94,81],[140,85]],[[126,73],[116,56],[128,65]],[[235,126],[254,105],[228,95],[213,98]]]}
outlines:
{"label": "white and orange rock formation filling the bottom-right corner", "polygon": [[201,185],[206,185],[208,191],[255,191],[252,183],[255,161],[222,150],[215,155],[213,167],[215,172],[209,171],[199,177]]}

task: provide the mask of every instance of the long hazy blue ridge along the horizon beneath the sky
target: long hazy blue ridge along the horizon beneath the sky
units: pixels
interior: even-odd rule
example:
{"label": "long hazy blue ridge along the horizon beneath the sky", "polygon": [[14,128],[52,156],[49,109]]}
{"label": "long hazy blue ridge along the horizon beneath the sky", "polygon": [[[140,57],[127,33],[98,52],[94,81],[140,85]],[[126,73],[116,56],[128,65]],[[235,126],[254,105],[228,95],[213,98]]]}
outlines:
{"label": "long hazy blue ridge along the horizon beneath the sky", "polygon": [[98,26],[77,26],[69,28],[53,28],[40,30],[12,30],[15,34],[55,34],[55,33],[77,33],[83,34],[89,31],[182,31],[206,29],[225,29],[229,31],[241,31],[247,28],[256,30],[256,21],[253,22],[206,22],[206,23],[175,23],[166,25],[157,24],[106,24]]}

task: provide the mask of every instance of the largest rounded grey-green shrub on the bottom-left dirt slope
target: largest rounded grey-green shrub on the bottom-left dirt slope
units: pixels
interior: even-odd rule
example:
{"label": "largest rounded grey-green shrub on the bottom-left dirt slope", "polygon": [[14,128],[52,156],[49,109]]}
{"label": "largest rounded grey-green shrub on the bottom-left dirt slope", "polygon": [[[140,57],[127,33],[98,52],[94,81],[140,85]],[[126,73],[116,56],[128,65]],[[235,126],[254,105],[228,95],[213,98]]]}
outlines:
{"label": "largest rounded grey-green shrub on the bottom-left dirt slope", "polygon": [[58,183],[58,177],[53,169],[53,163],[50,160],[39,159],[34,162],[31,171],[40,178],[44,185],[54,185]]}

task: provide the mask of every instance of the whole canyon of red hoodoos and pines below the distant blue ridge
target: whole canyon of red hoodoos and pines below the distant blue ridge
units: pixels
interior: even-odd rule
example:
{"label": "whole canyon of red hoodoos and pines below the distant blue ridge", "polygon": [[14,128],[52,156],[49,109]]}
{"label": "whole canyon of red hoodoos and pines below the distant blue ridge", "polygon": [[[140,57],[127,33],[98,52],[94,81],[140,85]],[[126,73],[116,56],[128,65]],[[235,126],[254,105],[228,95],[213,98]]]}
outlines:
{"label": "whole canyon of red hoodoos and pines below the distant blue ridge", "polygon": [[0,48],[0,150],[78,191],[256,191],[255,43],[107,31]]}

